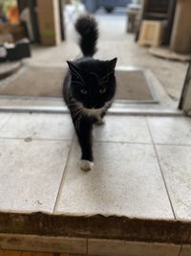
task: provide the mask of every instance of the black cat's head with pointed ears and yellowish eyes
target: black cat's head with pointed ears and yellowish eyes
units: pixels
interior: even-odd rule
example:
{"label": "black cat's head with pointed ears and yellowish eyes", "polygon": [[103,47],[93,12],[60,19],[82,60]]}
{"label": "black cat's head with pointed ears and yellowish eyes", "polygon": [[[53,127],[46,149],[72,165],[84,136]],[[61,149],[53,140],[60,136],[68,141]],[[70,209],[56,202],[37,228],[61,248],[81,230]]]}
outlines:
{"label": "black cat's head with pointed ears and yellowish eyes", "polygon": [[86,108],[101,108],[114,98],[117,58],[67,62],[72,75],[72,94],[77,102]]}

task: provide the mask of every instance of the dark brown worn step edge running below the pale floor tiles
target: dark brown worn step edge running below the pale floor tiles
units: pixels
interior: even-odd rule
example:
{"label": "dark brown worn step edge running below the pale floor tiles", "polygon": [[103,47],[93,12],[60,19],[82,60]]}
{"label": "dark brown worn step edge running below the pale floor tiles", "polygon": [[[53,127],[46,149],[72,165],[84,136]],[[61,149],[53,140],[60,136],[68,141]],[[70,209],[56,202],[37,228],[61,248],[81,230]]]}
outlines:
{"label": "dark brown worn step edge running below the pale floor tiles", "polygon": [[0,212],[0,233],[191,244],[191,221]]}

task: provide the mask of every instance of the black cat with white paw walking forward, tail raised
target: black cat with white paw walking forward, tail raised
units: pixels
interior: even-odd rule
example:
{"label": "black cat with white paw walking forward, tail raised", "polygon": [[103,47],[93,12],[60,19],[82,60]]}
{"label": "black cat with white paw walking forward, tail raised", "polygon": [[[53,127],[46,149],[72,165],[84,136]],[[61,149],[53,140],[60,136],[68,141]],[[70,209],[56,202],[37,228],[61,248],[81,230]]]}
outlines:
{"label": "black cat with white paw walking forward, tail raised", "polygon": [[93,167],[93,125],[102,123],[116,92],[117,58],[106,61],[93,58],[98,37],[94,17],[79,17],[75,30],[81,36],[80,48],[84,57],[67,61],[69,72],[64,80],[63,97],[70,110],[81,147],[81,169],[88,171]]}

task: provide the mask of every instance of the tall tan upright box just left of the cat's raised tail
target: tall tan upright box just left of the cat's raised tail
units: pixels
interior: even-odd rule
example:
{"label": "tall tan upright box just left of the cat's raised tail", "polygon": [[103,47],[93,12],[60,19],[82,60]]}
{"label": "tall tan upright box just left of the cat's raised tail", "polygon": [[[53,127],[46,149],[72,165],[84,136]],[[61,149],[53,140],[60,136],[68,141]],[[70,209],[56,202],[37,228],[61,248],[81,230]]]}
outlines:
{"label": "tall tan upright box just left of the cat's raised tail", "polygon": [[40,41],[43,45],[61,43],[59,0],[37,0]]}

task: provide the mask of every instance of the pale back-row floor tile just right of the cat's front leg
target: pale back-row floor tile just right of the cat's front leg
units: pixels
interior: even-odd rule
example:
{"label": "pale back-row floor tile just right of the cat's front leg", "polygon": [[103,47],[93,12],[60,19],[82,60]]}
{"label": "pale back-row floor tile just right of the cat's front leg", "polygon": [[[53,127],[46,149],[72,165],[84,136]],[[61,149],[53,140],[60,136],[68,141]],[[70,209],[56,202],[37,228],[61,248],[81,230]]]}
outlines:
{"label": "pale back-row floor tile just right of the cat's front leg", "polygon": [[95,127],[97,141],[151,143],[144,117],[106,116],[103,126]]}

